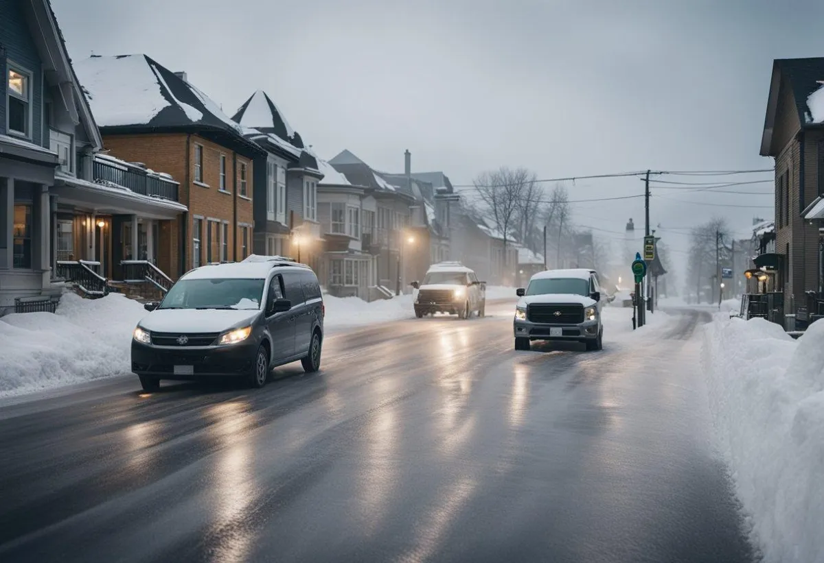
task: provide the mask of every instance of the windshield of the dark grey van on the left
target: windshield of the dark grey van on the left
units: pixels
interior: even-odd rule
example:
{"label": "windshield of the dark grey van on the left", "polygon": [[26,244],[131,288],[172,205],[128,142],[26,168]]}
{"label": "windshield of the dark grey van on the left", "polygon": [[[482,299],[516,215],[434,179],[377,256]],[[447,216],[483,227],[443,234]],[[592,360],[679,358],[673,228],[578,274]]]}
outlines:
{"label": "windshield of the dark grey van on the left", "polygon": [[157,309],[260,309],[264,282],[226,277],[180,280]]}

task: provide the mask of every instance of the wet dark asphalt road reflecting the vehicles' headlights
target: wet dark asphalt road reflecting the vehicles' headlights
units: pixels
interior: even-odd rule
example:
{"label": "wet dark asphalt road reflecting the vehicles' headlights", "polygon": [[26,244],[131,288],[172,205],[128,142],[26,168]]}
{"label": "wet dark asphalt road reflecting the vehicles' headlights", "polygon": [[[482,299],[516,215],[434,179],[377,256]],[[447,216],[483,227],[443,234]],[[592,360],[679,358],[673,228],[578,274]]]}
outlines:
{"label": "wet dark asphalt road reflecting the vehicles' headlights", "polygon": [[0,561],[753,561],[702,314],[516,352],[489,312],[330,334],[258,391],[0,402]]}

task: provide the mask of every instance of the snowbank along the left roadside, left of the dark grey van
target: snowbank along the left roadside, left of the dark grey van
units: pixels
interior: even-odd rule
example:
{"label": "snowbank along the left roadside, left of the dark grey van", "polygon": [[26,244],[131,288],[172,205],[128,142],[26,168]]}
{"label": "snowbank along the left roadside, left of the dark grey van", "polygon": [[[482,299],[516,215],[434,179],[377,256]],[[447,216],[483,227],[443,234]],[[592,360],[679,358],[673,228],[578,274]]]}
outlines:
{"label": "snowbank along the left roadside, left of the dark grey van", "polygon": [[146,311],[123,295],[67,293],[57,314],[0,319],[0,397],[129,373],[132,331]]}

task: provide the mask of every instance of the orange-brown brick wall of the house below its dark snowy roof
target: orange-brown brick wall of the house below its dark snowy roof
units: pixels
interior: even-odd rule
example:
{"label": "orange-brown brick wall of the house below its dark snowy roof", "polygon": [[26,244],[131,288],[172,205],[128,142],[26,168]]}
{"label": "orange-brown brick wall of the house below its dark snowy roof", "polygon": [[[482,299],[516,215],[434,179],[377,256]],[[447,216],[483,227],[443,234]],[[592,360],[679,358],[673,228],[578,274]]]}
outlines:
{"label": "orange-brown brick wall of the house below its dark snowy roof", "polygon": [[[203,147],[202,182],[194,181],[196,145]],[[204,218],[200,244],[201,263],[220,258],[220,240],[224,221],[228,221],[229,224],[227,229],[227,260],[239,261],[243,259],[242,229],[249,230],[248,254],[251,254],[251,227],[254,224],[252,210],[254,170],[250,159],[204,137],[186,135],[185,133],[105,136],[104,146],[111,151],[113,156],[125,161],[143,162],[152,170],[171,174],[174,179],[180,182],[180,202],[189,207],[189,216],[185,226],[186,259],[182,271],[180,271],[179,221],[172,221],[168,228],[162,229],[162,240],[159,241],[162,248],[168,249],[161,251],[161,254],[168,252],[170,268],[174,268],[171,272],[167,272],[170,277],[176,279],[192,267],[194,248],[192,224],[195,216]],[[187,146],[189,149],[188,162],[186,159]],[[226,158],[225,190],[219,188],[221,156]],[[244,176],[243,165],[246,165],[246,197],[240,194],[241,180]],[[207,257],[207,224],[210,218],[218,221],[212,223],[212,256]],[[241,224],[246,226],[240,226]],[[168,244],[166,244],[166,237],[170,238]]]}

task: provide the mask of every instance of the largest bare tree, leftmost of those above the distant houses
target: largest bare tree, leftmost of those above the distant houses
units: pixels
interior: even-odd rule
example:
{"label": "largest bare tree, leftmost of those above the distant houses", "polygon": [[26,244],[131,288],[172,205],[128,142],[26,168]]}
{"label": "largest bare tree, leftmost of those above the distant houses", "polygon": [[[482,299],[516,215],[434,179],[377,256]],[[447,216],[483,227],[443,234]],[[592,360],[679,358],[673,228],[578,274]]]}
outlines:
{"label": "largest bare tree, leftmost of those above the distant houses", "polygon": [[475,178],[475,189],[485,203],[489,218],[503,235],[503,263],[506,266],[507,242],[517,230],[518,210],[522,208],[527,187],[534,184],[535,174],[526,168],[483,172]]}

